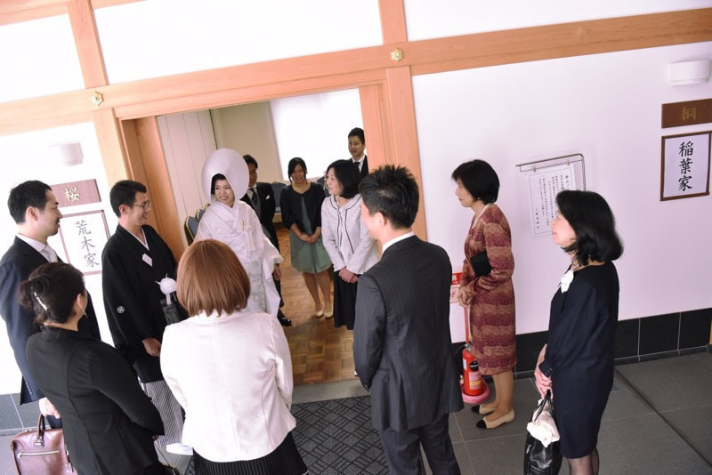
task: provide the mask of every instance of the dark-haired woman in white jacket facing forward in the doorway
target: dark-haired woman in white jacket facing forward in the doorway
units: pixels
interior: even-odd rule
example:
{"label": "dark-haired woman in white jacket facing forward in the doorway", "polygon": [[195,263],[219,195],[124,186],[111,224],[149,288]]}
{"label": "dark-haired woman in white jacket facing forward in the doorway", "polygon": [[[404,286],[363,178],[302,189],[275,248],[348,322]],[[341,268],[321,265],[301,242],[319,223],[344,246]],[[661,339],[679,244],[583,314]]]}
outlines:
{"label": "dark-haired woman in white jacket facing forward in the doorway", "polygon": [[[334,263],[334,326],[353,329],[359,276],[378,262],[376,241],[361,222],[359,169],[351,160],[327,168],[330,197],[321,205],[321,235]],[[327,315],[329,317],[329,315]]]}

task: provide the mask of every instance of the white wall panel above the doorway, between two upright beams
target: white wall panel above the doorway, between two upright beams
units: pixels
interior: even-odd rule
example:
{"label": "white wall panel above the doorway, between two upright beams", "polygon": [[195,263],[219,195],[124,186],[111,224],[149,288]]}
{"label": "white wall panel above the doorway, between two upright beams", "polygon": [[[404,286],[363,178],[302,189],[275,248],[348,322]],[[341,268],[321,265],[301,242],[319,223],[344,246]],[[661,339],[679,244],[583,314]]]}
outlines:
{"label": "white wall panel above the doorway, between two upright beams", "polygon": [[151,0],[94,12],[111,84],[382,44],[376,0]]}

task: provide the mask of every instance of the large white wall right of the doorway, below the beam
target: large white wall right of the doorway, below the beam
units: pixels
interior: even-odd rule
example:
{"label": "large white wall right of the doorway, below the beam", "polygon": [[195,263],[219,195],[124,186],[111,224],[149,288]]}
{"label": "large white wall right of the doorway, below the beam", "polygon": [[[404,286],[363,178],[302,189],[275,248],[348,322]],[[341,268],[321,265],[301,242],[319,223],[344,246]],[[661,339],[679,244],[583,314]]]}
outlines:
{"label": "large white wall right of the doorway, below the beam", "polygon": [[[587,189],[608,200],[626,246],[620,318],[712,307],[712,197],[659,201],[660,138],[712,128],[661,129],[661,104],[712,97],[712,83],[668,85],[667,65],[711,53],[712,43],[688,44],[413,78],[428,238],[462,268],[472,212],[449,177],[465,160],[488,160],[513,229],[517,333],[546,330],[569,260],[550,237],[533,237],[515,165],[570,153],[584,155]],[[461,321],[455,306],[453,315]]]}

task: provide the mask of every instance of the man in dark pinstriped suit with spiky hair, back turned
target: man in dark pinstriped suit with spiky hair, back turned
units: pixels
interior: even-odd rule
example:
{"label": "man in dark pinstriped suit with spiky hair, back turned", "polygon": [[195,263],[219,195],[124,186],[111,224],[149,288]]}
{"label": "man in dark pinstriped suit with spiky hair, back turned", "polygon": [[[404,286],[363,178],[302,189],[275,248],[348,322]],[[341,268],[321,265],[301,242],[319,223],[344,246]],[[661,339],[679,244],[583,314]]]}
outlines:
{"label": "man in dark pinstriped suit with spiky hair, back turned", "polygon": [[391,473],[458,474],[449,413],[463,407],[449,328],[452,268],[440,246],[413,233],[418,189],[386,165],[360,182],[361,221],[383,257],[359,278],[353,359],[371,392],[373,425]]}

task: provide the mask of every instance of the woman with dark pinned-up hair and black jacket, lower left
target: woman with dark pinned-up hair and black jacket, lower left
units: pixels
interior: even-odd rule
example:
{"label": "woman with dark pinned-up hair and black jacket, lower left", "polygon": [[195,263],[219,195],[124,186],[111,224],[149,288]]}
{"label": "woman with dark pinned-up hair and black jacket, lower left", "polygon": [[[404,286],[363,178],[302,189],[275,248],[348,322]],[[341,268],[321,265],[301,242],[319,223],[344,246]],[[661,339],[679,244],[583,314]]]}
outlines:
{"label": "woman with dark pinned-up hair and black jacket, lower left", "polygon": [[164,433],[158,409],[117,350],[78,333],[88,299],[82,273],[43,264],[20,284],[20,297],[43,327],[28,340],[29,369],[61,415],[77,472],[165,473],[153,447]]}

